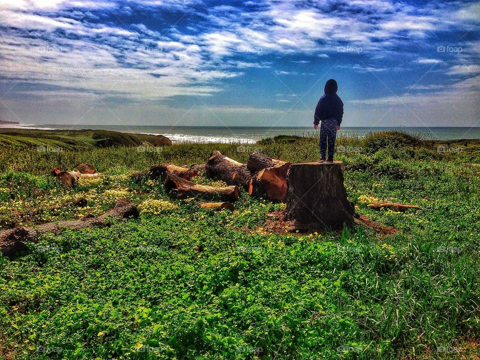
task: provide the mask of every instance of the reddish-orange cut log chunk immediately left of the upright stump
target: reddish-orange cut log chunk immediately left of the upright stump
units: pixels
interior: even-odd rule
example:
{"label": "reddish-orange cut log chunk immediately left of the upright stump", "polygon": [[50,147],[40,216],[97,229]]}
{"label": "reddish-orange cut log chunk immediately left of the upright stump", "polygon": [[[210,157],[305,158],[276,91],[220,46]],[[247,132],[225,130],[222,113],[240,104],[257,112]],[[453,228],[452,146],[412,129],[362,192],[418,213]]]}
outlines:
{"label": "reddish-orange cut log chunk immediately left of the upright stump", "polygon": [[286,200],[286,175],[289,162],[278,167],[268,167],[258,171],[251,179],[248,194],[270,200]]}

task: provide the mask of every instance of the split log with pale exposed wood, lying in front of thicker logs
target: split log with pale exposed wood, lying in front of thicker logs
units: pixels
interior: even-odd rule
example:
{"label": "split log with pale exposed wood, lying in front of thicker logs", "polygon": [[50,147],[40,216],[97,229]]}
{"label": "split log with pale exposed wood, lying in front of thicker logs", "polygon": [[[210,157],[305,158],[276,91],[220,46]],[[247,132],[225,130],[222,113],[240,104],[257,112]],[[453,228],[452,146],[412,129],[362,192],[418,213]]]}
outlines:
{"label": "split log with pale exposed wood, lying in front of thicker logs", "polygon": [[174,190],[178,197],[196,197],[203,199],[221,198],[226,201],[235,201],[240,197],[237,186],[209,186],[196,184],[166,171],[165,188]]}

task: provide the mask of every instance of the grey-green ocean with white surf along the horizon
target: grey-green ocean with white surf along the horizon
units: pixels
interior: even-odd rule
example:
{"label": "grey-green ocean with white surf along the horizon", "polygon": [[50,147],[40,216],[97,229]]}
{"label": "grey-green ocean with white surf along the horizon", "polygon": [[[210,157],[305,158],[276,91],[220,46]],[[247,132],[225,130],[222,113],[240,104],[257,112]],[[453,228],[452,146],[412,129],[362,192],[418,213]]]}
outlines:
{"label": "grey-green ocean with white surf along the horizon", "polygon": [[[12,126],[8,126],[12,127]],[[17,128],[37,129],[102,129],[130,133],[161,134],[173,143],[254,143],[261,138],[276,135],[318,135],[312,127],[225,127],[225,126],[139,126],[139,125],[17,125]],[[419,134],[425,139],[480,138],[480,127],[341,127],[337,136],[364,136],[370,131],[401,130]]]}

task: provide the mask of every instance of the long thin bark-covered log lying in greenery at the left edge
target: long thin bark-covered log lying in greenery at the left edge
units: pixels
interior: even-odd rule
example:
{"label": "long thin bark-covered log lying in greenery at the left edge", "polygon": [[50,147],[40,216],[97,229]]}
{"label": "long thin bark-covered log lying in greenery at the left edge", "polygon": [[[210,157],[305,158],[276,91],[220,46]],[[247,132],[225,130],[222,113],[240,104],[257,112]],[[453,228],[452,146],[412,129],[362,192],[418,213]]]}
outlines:
{"label": "long thin bark-covered log lying in greenery at the left edge", "polygon": [[11,257],[15,252],[26,249],[25,241],[37,241],[46,233],[60,233],[65,228],[83,229],[92,226],[108,226],[108,218],[137,217],[136,205],[125,198],[119,199],[110,210],[99,216],[84,216],[78,220],[47,222],[37,227],[15,227],[0,231],[0,250],[3,256]]}

